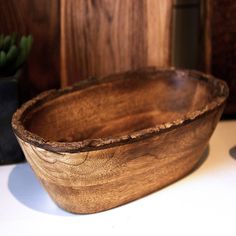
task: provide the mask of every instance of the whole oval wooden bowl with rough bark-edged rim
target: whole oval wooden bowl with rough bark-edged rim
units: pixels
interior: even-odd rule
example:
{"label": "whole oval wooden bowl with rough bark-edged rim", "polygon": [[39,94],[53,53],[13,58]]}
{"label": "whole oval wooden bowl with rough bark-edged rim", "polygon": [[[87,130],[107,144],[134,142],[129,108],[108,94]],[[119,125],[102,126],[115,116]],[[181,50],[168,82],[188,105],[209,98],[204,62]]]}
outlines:
{"label": "whole oval wooden bowl with rough bark-edged rim", "polygon": [[52,199],[76,213],[156,191],[200,161],[223,111],[225,82],[147,68],[44,92],[12,121]]}

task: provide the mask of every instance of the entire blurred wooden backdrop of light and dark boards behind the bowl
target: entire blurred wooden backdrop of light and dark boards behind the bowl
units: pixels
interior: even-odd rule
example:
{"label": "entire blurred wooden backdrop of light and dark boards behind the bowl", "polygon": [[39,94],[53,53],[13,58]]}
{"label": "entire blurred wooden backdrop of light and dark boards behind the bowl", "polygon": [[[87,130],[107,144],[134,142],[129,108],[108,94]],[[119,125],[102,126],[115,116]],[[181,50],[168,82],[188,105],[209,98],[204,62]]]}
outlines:
{"label": "entire blurred wooden backdrop of light and dark boards behind the bowl", "polygon": [[235,0],[0,0],[0,32],[32,34],[21,94],[145,66],[227,81],[236,117]]}

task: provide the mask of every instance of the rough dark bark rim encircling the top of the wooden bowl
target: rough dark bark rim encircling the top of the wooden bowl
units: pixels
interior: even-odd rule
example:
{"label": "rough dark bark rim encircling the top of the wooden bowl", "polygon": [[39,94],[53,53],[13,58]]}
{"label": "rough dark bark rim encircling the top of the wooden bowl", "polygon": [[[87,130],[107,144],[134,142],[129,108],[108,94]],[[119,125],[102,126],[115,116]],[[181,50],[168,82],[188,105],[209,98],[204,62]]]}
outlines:
{"label": "rough dark bark rim encircling the top of the wooden bowl", "polygon": [[[214,101],[206,104],[203,109],[196,110],[192,112],[187,112],[183,119],[173,120],[171,122],[163,123],[161,125],[156,125],[150,128],[141,129],[139,131],[132,132],[127,135],[120,135],[116,137],[105,137],[105,138],[92,138],[85,139],[82,141],[76,142],[56,142],[45,140],[44,138],[34,134],[25,129],[22,119],[27,112],[34,109],[34,107],[40,106],[51,99],[56,99],[64,94],[74,92],[77,90],[82,90],[94,85],[100,85],[117,78],[127,78],[130,75],[140,75],[147,73],[176,73],[178,76],[187,76],[193,79],[198,79],[206,83],[211,84],[211,86],[216,87],[217,97]],[[144,76],[145,77],[145,76]],[[132,142],[139,141],[141,139],[149,138],[155,135],[160,135],[163,132],[170,131],[175,129],[178,126],[182,126],[190,123],[193,120],[200,119],[202,116],[213,112],[219,107],[225,105],[225,101],[229,95],[229,89],[225,81],[220,80],[212,75],[205,74],[196,70],[189,69],[176,69],[174,67],[170,68],[158,68],[158,67],[146,67],[137,70],[130,70],[121,73],[115,73],[109,76],[105,76],[101,79],[96,79],[94,77],[89,78],[88,80],[82,80],[81,82],[74,84],[73,86],[61,88],[61,89],[52,89],[40,93],[38,96],[29,100],[23,104],[13,115],[12,117],[12,128],[16,137],[22,139],[23,141],[33,144],[36,147],[51,151],[54,153],[78,153],[86,152],[92,150],[106,149],[113,146],[124,145]]]}

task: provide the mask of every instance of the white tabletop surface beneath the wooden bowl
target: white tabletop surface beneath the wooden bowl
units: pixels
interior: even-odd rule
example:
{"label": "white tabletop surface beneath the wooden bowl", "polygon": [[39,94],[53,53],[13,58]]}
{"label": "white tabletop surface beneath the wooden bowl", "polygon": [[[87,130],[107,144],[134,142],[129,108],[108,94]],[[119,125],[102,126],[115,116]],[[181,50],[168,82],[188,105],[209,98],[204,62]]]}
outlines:
{"label": "white tabletop surface beneath the wooden bowl", "polygon": [[236,235],[236,121],[220,122],[205,161],[178,182],[101,213],[58,208],[27,163],[0,166],[0,235]]}

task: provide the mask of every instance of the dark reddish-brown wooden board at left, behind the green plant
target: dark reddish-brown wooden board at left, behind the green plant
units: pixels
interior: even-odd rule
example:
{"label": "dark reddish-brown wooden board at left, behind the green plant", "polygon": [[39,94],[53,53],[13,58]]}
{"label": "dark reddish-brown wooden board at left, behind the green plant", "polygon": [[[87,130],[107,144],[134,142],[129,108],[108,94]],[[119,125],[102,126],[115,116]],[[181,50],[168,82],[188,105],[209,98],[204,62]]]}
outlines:
{"label": "dark reddish-brown wooden board at left, behind the green plant", "polygon": [[22,95],[60,86],[60,1],[0,0],[0,33],[32,34]]}

